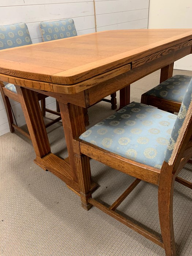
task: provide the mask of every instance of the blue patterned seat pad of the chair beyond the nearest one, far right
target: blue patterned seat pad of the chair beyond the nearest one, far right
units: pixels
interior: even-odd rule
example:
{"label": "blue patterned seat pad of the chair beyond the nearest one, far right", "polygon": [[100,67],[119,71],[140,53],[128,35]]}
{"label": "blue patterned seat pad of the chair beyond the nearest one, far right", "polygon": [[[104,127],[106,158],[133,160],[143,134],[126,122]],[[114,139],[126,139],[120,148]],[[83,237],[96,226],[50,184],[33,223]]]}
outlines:
{"label": "blue patterned seat pad of the chair beyond the nearest one, far right", "polygon": [[147,91],[146,95],[155,96],[181,103],[192,76],[175,75]]}

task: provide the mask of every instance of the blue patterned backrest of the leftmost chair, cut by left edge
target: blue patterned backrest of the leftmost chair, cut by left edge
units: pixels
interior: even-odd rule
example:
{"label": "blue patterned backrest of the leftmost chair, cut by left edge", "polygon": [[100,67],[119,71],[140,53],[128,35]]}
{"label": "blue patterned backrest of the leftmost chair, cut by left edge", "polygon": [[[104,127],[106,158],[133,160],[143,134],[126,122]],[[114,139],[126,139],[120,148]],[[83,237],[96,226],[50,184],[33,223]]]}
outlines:
{"label": "blue patterned backrest of the leftmost chair, cut by left edge", "polygon": [[0,50],[32,44],[25,23],[0,26]]}

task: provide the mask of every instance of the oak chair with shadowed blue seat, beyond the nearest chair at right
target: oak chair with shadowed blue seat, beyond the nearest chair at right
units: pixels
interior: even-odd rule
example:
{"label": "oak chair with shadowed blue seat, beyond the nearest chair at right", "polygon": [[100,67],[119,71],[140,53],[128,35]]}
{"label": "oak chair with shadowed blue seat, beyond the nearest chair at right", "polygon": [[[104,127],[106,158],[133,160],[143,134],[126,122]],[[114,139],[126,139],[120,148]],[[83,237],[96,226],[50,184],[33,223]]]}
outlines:
{"label": "oak chair with shadowed blue seat, beyond the nearest chair at right", "polygon": [[192,76],[174,75],[142,94],[141,102],[169,112],[179,112]]}

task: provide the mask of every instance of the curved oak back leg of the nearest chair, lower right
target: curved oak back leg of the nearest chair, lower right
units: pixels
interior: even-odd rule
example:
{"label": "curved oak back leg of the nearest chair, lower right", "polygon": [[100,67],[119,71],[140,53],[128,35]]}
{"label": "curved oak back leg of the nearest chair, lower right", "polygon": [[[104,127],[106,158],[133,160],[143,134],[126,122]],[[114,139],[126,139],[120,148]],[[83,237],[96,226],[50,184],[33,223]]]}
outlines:
{"label": "curved oak back leg of the nearest chair, lower right", "polygon": [[[167,164],[168,165],[168,164]],[[169,169],[167,170],[167,172]],[[162,173],[161,173],[162,174]],[[163,177],[164,176],[164,177]],[[173,188],[174,179],[172,173],[167,178],[162,174],[159,180],[158,209],[161,234],[166,256],[176,256],[173,229]]]}

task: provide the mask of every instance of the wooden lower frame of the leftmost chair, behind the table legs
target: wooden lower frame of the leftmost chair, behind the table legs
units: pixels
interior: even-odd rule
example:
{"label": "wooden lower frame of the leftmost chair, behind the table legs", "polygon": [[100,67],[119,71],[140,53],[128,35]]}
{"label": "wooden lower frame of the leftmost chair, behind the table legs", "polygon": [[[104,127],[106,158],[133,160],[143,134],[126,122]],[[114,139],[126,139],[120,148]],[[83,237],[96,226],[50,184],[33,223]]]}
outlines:
{"label": "wooden lower frame of the leftmost chair, behind the table legs", "polygon": [[[15,129],[16,129],[20,133],[25,135],[28,139],[31,139],[30,135],[27,132],[23,131],[22,128],[18,127],[18,125],[16,125],[16,124],[14,124],[14,118],[13,118],[14,113],[12,112],[11,103],[10,103],[9,98],[11,98],[14,101],[20,103],[18,94],[8,90],[7,88],[5,88],[4,83],[1,82],[1,81],[0,81],[0,92],[1,92],[1,95],[2,95],[2,98],[3,98],[5,110],[6,110],[6,113],[7,113],[7,118],[8,118],[10,131],[14,132]],[[45,98],[48,97],[48,96],[44,95],[44,94],[41,94],[41,93],[37,93],[37,97],[38,97],[38,100],[41,101],[42,116],[45,116],[45,112],[49,112],[49,113],[52,113],[52,114],[55,114],[55,115],[59,116],[56,119],[54,119],[54,120],[50,121],[49,123],[45,124],[45,127],[47,128],[50,125],[60,121],[61,120],[61,114],[59,112],[47,109],[45,107]]]}

